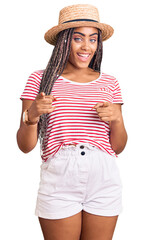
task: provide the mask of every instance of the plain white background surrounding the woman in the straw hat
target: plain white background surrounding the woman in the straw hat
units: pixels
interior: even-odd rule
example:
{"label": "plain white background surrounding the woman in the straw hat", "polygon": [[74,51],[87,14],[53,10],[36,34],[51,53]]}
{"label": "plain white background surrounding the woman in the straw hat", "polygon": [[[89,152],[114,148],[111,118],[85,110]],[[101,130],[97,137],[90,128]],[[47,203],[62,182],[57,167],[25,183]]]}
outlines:
{"label": "plain white background surrounding the woman in the straw hat", "polygon": [[59,10],[76,3],[93,4],[101,22],[115,33],[104,42],[102,71],[119,80],[128,132],[126,149],[117,163],[123,182],[123,213],[114,240],[144,239],[143,157],[143,3],[140,0],[3,1],[0,6],[0,239],[43,239],[34,215],[40,174],[39,144],[29,154],[16,143],[28,76],[44,69],[53,47],[44,33],[57,25]]}

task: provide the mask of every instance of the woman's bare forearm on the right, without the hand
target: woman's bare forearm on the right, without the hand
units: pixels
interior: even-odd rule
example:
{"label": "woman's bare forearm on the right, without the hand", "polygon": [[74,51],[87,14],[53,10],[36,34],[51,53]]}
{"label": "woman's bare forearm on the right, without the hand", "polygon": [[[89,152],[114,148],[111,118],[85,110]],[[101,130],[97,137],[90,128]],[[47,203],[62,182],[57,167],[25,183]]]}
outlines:
{"label": "woman's bare forearm on the right, without the hand", "polygon": [[126,146],[127,132],[122,117],[110,124],[110,143],[116,154],[121,153]]}

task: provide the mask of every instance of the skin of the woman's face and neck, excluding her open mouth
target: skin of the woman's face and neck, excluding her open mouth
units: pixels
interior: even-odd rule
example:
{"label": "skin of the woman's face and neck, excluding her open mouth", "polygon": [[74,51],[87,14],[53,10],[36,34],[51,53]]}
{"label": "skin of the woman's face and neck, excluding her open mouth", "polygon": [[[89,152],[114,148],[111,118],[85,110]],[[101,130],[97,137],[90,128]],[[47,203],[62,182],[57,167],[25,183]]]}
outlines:
{"label": "skin of the woman's face and neck, excluding her open mouth", "polygon": [[[69,60],[62,76],[72,81],[78,79],[78,82],[89,82],[99,77],[98,72],[88,68],[97,49],[97,38],[98,30],[96,28],[81,27],[75,29]],[[82,61],[78,57],[80,53],[90,54],[90,57],[87,61]]]}

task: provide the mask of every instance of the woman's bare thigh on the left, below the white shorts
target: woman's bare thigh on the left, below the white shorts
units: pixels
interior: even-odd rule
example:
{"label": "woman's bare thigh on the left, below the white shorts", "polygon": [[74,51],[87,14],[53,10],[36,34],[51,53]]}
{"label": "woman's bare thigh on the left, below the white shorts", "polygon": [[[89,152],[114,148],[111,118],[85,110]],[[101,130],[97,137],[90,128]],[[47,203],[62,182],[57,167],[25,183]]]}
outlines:
{"label": "woman's bare thigh on the left, below the white shorts", "polygon": [[79,240],[82,212],[57,220],[39,218],[39,222],[45,240]]}

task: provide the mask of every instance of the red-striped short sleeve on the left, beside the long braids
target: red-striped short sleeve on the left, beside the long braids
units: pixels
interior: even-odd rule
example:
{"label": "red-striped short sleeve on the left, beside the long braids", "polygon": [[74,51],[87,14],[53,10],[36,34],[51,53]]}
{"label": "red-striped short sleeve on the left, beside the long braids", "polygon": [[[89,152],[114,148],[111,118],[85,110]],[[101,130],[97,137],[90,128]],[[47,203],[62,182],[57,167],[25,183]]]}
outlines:
{"label": "red-striped short sleeve on the left, beside the long braids", "polygon": [[33,72],[25,85],[24,91],[20,96],[20,99],[35,100],[37,94],[39,93],[40,83],[43,75],[43,70]]}

